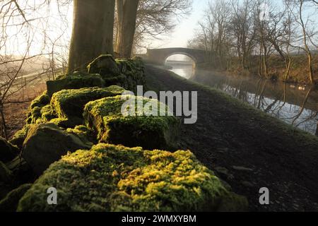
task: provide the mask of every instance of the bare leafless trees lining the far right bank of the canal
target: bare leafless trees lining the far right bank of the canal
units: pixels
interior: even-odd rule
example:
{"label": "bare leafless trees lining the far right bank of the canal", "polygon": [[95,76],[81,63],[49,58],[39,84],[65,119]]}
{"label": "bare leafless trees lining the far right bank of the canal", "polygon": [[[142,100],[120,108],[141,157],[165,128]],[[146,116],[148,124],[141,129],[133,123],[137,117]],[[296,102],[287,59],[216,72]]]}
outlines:
{"label": "bare leafless trees lining the far right bank of the canal", "polygon": [[[311,16],[317,13],[317,5],[312,0],[281,0],[279,4],[266,0],[211,1],[189,47],[206,50],[213,66],[228,69],[235,62],[238,69],[251,71],[253,64],[253,72],[266,78],[277,76],[275,62],[269,60],[275,56],[285,64],[285,81],[294,55],[305,54],[308,78],[314,83],[312,61],[313,49],[318,49],[318,30]],[[230,64],[225,64],[227,61]]]}

